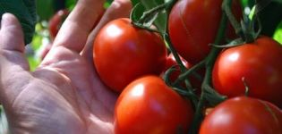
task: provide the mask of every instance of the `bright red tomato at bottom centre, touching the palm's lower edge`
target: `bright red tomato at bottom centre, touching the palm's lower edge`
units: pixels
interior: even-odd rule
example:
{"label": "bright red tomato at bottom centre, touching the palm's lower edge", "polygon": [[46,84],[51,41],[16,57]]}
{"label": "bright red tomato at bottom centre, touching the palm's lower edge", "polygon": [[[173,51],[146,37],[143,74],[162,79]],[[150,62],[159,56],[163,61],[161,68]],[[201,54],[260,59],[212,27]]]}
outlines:
{"label": "bright red tomato at bottom centre, touching the palm's lower edge", "polygon": [[188,131],[192,105],[157,76],[132,81],[115,105],[115,134],[172,134]]}

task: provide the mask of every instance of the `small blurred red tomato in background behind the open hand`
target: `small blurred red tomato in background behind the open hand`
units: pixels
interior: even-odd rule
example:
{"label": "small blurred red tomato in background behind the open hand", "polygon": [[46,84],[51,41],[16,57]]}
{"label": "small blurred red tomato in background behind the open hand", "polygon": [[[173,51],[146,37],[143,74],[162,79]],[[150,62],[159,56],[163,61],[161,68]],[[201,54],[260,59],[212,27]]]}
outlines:
{"label": "small blurred red tomato in background behind the open hand", "polygon": [[68,14],[69,14],[69,11],[67,10],[59,10],[49,20],[49,33],[50,33],[50,38],[52,40],[56,38],[56,34],[58,33],[59,29],[61,28],[62,23],[64,22]]}

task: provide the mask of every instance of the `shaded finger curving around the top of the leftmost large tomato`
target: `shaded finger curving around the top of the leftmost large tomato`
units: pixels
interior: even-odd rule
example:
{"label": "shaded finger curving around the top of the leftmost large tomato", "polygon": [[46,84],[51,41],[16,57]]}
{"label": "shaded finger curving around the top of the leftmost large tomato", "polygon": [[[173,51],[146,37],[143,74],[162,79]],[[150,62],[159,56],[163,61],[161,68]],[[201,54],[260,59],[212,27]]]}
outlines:
{"label": "shaded finger curving around the top of the leftmost large tomato", "polygon": [[130,0],[115,0],[110,7],[108,7],[106,13],[104,13],[98,25],[90,33],[87,40],[86,46],[83,48],[81,55],[92,60],[92,47],[94,38],[96,38],[98,31],[108,22],[113,21],[117,18],[129,17],[132,9],[132,4]]}

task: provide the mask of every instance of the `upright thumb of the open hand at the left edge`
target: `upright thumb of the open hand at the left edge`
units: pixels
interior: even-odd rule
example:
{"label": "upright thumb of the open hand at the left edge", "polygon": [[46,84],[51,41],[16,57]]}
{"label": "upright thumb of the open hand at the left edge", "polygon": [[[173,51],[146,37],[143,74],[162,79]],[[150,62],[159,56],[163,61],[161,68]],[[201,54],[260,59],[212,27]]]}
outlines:
{"label": "upright thumb of the open hand at the left edge", "polygon": [[0,29],[0,69],[10,68],[11,65],[19,69],[29,70],[24,58],[24,41],[21,24],[11,13],[4,13]]}

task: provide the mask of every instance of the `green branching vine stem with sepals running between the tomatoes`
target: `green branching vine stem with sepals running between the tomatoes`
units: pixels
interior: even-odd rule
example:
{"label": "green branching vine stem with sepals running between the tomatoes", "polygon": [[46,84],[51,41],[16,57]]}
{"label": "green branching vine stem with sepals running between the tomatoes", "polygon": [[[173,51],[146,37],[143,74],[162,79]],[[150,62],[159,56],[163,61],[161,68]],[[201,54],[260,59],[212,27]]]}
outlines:
{"label": "green branching vine stem with sepals running between the tomatoes", "polygon": [[[153,29],[153,30],[150,29],[150,26],[158,17],[158,13],[161,13],[163,11],[170,13],[171,8],[176,2],[177,0],[169,0],[164,4],[159,4],[157,7],[152,8],[147,12],[143,13],[139,19],[134,18],[133,24],[142,29],[148,29],[153,32],[158,32],[159,34],[162,35],[164,40],[167,42],[168,49],[172,54],[174,54],[175,60],[178,63],[182,74],[179,75],[178,79],[175,80],[174,82],[167,80],[168,78],[167,76],[165,76],[164,79],[165,81],[167,81],[167,85],[174,88],[181,95],[187,96],[192,100],[192,103],[195,108],[195,115],[192,121],[192,126],[190,127],[190,132],[197,133],[204,116],[202,111],[207,106],[206,103],[209,103],[209,106],[215,106],[226,100],[226,96],[219,95],[218,92],[212,88],[212,84],[211,84],[212,69],[218,57],[219,52],[224,47],[241,45],[243,43],[252,42],[255,38],[258,38],[258,36],[261,33],[261,26],[260,26],[261,21],[257,14],[260,13],[262,8],[265,6],[259,6],[264,3],[256,3],[258,9],[255,9],[255,14],[252,17],[252,20],[244,16],[244,21],[241,21],[240,23],[236,20],[234,14],[232,13],[231,10],[232,0],[223,0],[221,6],[223,12],[221,15],[221,21],[219,24],[218,33],[216,39],[214,40],[213,45],[211,45],[212,48],[208,56],[206,56],[206,58],[202,60],[200,63],[195,64],[192,68],[186,69],[184,64],[181,62],[180,57],[178,56],[173,44],[170,41],[169,35],[167,33],[167,25],[165,27],[166,29],[165,32],[158,31],[157,29]],[[134,9],[132,10],[132,12],[134,12]],[[236,35],[238,35],[240,38],[236,38],[235,40],[230,41],[227,45],[220,45],[222,44],[222,40],[225,36],[226,25],[228,21],[235,29]],[[167,24],[167,21],[165,23]],[[257,31],[255,31],[255,27],[254,27],[255,24],[259,25]],[[196,95],[194,94],[191,84],[189,80],[187,80],[187,78],[189,75],[192,75],[193,72],[203,67],[205,67],[205,76],[201,84],[201,96],[195,97]],[[172,71],[175,71],[174,67],[172,67],[170,70],[167,70],[166,75],[170,75]],[[179,88],[178,85],[181,81],[185,81],[186,89]]]}

